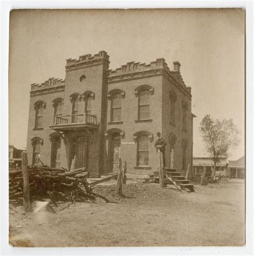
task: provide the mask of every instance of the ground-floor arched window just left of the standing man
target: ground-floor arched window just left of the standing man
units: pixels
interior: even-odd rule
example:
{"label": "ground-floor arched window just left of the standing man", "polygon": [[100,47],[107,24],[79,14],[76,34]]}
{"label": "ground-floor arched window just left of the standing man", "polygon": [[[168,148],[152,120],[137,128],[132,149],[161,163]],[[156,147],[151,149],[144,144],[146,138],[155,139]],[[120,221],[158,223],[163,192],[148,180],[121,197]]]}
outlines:
{"label": "ground-floor arched window just left of the standing man", "polygon": [[149,162],[149,138],[140,135],[137,138],[137,166],[148,166]]}

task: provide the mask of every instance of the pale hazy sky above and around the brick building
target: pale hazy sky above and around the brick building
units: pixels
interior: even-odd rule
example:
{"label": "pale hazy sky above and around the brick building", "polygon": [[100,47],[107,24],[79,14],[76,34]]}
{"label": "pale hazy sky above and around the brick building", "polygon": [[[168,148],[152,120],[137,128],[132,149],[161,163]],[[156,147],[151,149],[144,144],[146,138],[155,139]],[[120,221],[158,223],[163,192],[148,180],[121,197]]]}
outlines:
{"label": "pale hazy sky above and around the brick building", "polygon": [[9,144],[26,147],[31,84],[65,78],[68,58],[106,50],[110,69],[165,58],[192,88],[193,156],[207,156],[205,114],[233,119],[244,155],[244,10],[14,10],[10,15]]}

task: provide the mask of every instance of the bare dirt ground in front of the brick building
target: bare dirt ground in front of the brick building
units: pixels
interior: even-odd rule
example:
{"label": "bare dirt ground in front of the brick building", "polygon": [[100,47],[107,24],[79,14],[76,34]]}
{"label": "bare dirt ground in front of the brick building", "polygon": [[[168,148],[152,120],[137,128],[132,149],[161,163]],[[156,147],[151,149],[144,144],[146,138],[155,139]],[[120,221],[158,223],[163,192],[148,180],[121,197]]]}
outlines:
{"label": "bare dirt ground in front of the brick building", "polygon": [[[10,244],[28,247],[242,246],[244,180],[195,186],[195,193],[136,182],[95,186],[105,203],[76,203],[57,211],[10,214]],[[61,209],[65,204],[60,204]]]}

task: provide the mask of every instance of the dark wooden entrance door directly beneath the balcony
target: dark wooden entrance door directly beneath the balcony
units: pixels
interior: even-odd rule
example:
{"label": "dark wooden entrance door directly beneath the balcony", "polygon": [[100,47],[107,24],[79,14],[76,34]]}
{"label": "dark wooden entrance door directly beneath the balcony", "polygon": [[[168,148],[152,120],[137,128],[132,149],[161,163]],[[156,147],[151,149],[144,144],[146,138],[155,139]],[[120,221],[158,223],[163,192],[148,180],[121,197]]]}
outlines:
{"label": "dark wooden entrance door directly beneath the balcony", "polygon": [[77,165],[76,168],[88,167],[88,145],[89,145],[89,137],[81,136],[75,137],[71,141],[71,159],[70,165],[72,163],[72,159],[74,156],[77,156]]}

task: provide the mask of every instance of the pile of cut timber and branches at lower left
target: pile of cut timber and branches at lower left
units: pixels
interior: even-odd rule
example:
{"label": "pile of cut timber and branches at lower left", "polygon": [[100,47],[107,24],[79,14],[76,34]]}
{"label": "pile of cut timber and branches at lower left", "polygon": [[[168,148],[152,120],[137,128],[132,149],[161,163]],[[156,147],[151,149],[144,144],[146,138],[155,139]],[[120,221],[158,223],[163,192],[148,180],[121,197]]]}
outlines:
{"label": "pile of cut timber and branches at lower left", "polygon": [[[108,199],[92,191],[86,178],[85,168],[68,172],[65,169],[50,168],[47,165],[28,166],[30,201],[57,201],[95,200],[99,196],[106,202]],[[23,203],[23,175],[21,170],[9,173],[10,203]]]}

